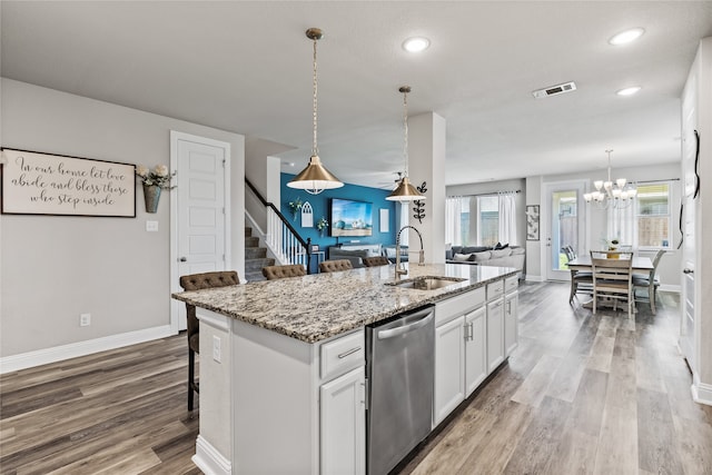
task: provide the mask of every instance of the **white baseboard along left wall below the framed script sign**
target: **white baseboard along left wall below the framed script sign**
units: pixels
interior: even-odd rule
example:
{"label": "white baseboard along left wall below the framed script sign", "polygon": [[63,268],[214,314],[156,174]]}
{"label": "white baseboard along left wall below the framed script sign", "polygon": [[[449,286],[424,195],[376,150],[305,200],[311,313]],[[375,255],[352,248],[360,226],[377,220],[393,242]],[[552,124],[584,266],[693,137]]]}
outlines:
{"label": "white baseboard along left wall below the framed script sign", "polygon": [[0,374],[62,362],[78,356],[91,355],[108,349],[149,342],[151,339],[166,338],[172,335],[176,335],[176,333],[171,329],[170,325],[165,325],[6,356],[4,358],[0,358]]}

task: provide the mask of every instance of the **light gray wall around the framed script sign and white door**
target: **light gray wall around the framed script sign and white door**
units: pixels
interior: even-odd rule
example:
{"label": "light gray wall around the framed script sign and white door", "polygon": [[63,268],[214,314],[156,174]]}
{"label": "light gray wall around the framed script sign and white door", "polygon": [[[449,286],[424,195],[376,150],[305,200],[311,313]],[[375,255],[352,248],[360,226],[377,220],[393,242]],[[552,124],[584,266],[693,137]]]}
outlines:
{"label": "light gray wall around the framed script sign and white door", "polygon": [[[1,88],[8,148],[155,166],[169,165],[170,130],[229,142],[231,267],[241,271],[243,136],[8,79]],[[137,187],[136,218],[1,216],[0,356],[169,325],[170,195],[156,215],[142,198]]]}

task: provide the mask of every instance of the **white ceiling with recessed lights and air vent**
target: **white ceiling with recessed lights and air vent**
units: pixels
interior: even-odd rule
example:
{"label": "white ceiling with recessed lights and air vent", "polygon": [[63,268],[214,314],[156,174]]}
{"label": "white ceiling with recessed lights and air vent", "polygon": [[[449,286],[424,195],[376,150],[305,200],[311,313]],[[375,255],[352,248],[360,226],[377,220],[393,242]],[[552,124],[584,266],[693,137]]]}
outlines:
{"label": "white ceiling with recessed lights and air vent", "polygon": [[[679,160],[680,95],[712,1],[1,3],[2,76],[276,142],[340,179],[393,181],[409,115],[447,122],[447,185]],[[643,27],[636,42],[610,37]],[[432,46],[406,53],[407,37]],[[572,93],[532,91],[575,81]],[[615,91],[642,86],[622,98]],[[417,181],[417,177],[413,177]]]}

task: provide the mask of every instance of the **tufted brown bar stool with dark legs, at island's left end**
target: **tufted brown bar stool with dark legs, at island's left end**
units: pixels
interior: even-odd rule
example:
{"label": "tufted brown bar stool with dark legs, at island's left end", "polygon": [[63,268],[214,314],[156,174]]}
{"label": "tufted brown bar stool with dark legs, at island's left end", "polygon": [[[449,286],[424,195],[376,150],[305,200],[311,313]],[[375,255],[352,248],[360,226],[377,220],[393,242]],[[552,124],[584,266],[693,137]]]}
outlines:
{"label": "tufted brown bar stool with dark legs, at island's left end", "polygon": [[[235,270],[219,270],[215,273],[189,274],[180,276],[180,287],[184,290],[202,290],[206,288],[227,287],[238,285],[239,277]],[[196,353],[200,354],[200,325],[196,316],[195,305],[186,303],[187,336],[188,336],[188,410],[192,410],[194,392],[200,393],[196,382]]]}

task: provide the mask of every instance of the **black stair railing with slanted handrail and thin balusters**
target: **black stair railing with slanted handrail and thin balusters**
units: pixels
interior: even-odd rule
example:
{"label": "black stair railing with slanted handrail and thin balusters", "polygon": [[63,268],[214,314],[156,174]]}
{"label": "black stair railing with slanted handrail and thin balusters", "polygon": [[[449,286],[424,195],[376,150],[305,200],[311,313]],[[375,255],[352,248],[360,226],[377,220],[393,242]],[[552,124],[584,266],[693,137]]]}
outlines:
{"label": "black stair railing with slanted handrail and thin balusters", "polygon": [[301,264],[306,267],[307,274],[312,274],[312,238],[304,239],[281,211],[267,201],[247,178],[245,178],[245,184],[265,207],[267,214],[265,243],[267,246],[280,261]]}

